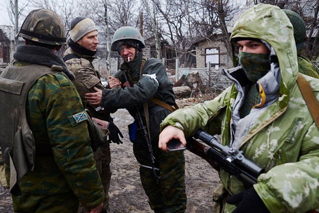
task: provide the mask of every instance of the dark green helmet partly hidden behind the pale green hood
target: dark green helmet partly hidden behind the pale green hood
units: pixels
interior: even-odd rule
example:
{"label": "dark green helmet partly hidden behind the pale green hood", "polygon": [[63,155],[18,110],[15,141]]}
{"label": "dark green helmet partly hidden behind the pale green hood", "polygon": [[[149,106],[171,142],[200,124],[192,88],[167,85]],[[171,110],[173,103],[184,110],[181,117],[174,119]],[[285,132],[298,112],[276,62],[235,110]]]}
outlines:
{"label": "dark green helmet partly hidden behind the pale green hood", "polygon": [[283,9],[294,27],[297,52],[306,47],[306,23],[302,17],[290,9]]}

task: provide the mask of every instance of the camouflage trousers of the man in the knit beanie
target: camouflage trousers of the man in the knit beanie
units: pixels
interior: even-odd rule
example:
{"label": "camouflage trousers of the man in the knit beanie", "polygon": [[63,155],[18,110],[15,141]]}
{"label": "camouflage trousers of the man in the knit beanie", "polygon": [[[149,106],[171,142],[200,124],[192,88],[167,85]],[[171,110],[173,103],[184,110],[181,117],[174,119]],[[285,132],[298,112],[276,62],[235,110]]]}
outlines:
{"label": "camouflage trousers of the man in the knit beanie", "polygon": [[[110,163],[111,163],[111,152],[110,152],[110,145],[106,144],[103,147],[98,148],[94,152],[94,160],[96,164],[96,168],[99,171],[102,185],[105,192],[105,200],[103,202],[103,210],[102,213],[106,213],[107,209],[109,208],[109,189],[110,189],[110,183],[111,183],[111,169],[110,169]],[[82,207],[80,204],[78,213],[84,213],[87,210]]]}

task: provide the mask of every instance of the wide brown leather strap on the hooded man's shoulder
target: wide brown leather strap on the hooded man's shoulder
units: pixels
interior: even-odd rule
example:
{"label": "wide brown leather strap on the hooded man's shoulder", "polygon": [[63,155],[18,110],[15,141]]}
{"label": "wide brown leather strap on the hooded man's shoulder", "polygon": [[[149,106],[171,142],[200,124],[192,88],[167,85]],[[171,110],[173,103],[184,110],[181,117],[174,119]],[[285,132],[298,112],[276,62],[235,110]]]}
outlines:
{"label": "wide brown leather strap on the hooded man's shoulder", "polygon": [[317,125],[317,128],[319,129],[319,102],[308,81],[300,74],[298,75],[297,83],[301,91],[301,94],[303,95],[304,100],[306,101],[310,114],[312,115]]}

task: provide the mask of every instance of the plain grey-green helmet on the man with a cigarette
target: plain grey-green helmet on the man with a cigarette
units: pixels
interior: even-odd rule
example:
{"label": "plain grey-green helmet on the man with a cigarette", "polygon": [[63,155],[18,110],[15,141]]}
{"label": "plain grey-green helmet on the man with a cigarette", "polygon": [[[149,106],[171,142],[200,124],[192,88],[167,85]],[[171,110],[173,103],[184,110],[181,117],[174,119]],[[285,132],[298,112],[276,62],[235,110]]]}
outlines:
{"label": "plain grey-green helmet on the man with a cigarette", "polygon": [[139,49],[145,47],[141,33],[132,26],[122,26],[114,32],[111,50],[117,51],[123,44],[130,44]]}

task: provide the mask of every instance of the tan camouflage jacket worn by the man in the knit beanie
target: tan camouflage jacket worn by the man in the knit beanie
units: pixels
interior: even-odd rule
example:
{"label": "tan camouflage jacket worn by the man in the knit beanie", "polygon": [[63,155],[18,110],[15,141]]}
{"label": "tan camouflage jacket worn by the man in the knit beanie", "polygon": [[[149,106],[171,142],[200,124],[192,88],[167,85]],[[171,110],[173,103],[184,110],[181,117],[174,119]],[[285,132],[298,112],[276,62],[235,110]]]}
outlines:
{"label": "tan camouflage jacket worn by the man in the knit beanie", "polygon": [[96,59],[96,57],[78,54],[69,47],[64,52],[64,57],[70,54],[76,54],[80,57],[69,59],[65,61],[65,64],[68,69],[75,75],[75,79],[72,82],[76,87],[78,93],[80,94],[84,107],[90,111],[92,117],[99,118],[101,120],[112,121],[109,111],[100,110],[97,112],[93,106],[89,105],[85,101],[84,98],[85,93],[95,92],[93,87],[102,90],[105,89],[101,83],[100,73],[94,68],[92,64],[92,61]]}

